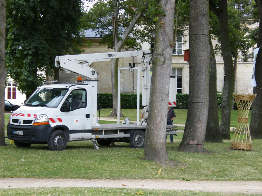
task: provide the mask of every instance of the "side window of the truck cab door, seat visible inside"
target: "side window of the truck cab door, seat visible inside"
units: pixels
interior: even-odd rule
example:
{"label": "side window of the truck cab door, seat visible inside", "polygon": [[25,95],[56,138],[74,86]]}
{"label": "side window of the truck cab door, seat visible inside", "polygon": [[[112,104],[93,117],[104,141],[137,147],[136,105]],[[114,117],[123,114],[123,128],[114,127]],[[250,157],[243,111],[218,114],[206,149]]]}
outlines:
{"label": "side window of the truck cab door, seat visible inside", "polygon": [[70,103],[70,111],[76,110],[78,108],[86,107],[86,91],[85,89],[77,89],[71,91],[71,93],[66,98],[66,101]]}

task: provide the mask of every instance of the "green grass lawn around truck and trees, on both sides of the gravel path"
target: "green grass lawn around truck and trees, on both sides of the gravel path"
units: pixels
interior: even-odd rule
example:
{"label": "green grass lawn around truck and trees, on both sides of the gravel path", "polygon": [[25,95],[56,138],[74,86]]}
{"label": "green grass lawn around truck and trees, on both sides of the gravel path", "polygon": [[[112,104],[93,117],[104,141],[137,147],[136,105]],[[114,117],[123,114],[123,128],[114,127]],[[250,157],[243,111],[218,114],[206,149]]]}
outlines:
{"label": "green grass lawn around truck and trees, on both sides of the gravel path", "polygon": [[[125,112],[132,114],[133,110],[122,111],[126,115]],[[179,121],[175,123],[185,123],[187,110],[176,109],[175,112],[176,120]],[[110,109],[102,109],[101,116],[105,117],[109,113]],[[6,123],[9,116],[10,114],[5,114]],[[233,111],[232,116],[237,119],[237,111]],[[133,120],[132,117],[130,120]],[[115,122],[101,121],[100,123]],[[93,150],[90,141],[77,141],[69,142],[64,151],[50,151],[47,145],[31,145],[29,148],[17,148],[14,144],[6,145],[0,147],[0,177],[261,181],[261,140],[253,140],[253,151],[250,152],[230,150],[231,140],[224,140],[222,144],[206,142],[205,153],[183,153],[176,151],[182,136],[183,133],[178,133],[178,136],[174,137],[174,144],[170,144],[168,138],[166,148],[170,164],[166,166],[144,160],[144,148],[130,148],[128,143],[116,142],[115,145],[100,146],[100,150]],[[6,143],[9,143],[8,139]],[[161,173],[158,172],[160,169]],[[110,196],[135,195],[136,191],[143,191],[144,195],[220,195],[219,193],[122,188],[0,189],[0,195],[32,193],[32,195],[104,194]]]}

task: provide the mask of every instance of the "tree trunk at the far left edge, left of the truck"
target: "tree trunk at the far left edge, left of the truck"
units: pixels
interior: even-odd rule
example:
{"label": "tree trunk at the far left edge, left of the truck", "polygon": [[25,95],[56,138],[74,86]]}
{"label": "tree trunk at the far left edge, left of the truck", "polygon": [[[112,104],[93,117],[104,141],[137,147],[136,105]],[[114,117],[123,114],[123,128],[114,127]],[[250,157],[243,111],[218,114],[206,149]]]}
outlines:
{"label": "tree trunk at the far left edge, left of the truck", "polygon": [[0,146],[4,146],[4,94],[5,82],[7,77],[6,57],[5,57],[5,41],[6,41],[6,1],[0,0]]}

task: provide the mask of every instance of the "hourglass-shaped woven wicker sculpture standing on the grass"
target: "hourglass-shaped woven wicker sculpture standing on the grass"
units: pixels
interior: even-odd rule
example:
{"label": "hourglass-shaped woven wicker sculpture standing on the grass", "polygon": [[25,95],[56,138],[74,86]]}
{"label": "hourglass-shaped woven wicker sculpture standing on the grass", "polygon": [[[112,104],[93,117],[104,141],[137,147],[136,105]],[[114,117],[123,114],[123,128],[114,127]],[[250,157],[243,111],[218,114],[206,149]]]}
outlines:
{"label": "hourglass-shaped woven wicker sculpture standing on the grass", "polygon": [[234,97],[238,108],[238,120],[230,148],[252,151],[252,140],[248,126],[248,113],[252,102],[255,99],[255,95],[234,94]]}

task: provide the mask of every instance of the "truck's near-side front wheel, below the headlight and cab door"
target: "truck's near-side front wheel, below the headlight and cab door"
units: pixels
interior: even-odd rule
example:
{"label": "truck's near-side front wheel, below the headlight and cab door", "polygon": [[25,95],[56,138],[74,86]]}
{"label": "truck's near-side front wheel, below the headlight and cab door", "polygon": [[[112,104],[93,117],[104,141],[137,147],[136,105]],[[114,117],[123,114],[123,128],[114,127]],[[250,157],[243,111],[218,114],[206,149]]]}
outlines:
{"label": "truck's near-side front wheel, below the headlight and cab door", "polygon": [[47,146],[52,151],[63,151],[67,146],[67,136],[64,131],[55,130],[51,133]]}

